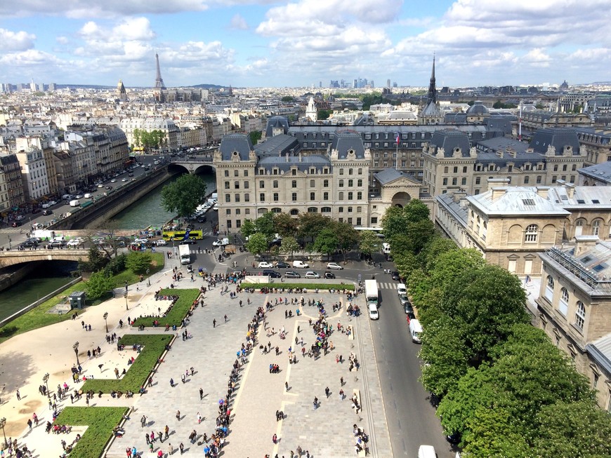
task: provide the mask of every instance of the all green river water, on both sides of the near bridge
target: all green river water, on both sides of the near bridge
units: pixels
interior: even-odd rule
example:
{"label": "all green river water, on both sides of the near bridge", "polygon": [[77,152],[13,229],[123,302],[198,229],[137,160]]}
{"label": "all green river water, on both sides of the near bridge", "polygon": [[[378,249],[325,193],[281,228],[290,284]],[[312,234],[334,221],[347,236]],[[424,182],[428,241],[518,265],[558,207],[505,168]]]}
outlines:
{"label": "all green river water, on both sides of the near bridge", "polygon": [[[179,175],[174,175],[164,184],[176,181]],[[216,177],[214,175],[197,175],[206,182],[206,194],[210,194],[216,189]],[[112,218],[117,222],[117,229],[144,229],[145,227],[161,228],[166,221],[171,220],[174,216],[162,207],[162,188],[164,184],[150,191],[146,196],[140,198],[118,213]],[[56,264],[53,264],[56,266]],[[76,267],[73,266],[72,269]],[[38,271],[39,269],[37,269]],[[59,271],[51,267],[43,269],[45,271]],[[19,311],[23,307],[37,301],[48,293],[60,288],[71,280],[65,273],[59,273],[56,276],[48,277],[42,275],[30,275],[11,286],[7,290],[0,291],[0,319],[11,316],[15,311]]]}

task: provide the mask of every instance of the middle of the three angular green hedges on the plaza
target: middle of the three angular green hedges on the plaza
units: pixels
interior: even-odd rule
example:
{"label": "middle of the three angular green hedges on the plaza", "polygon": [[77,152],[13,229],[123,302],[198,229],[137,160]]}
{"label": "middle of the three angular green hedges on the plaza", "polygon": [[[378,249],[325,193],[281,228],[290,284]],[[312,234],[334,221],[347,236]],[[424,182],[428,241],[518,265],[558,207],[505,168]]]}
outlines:
{"label": "middle of the three angular green hedges on the plaza", "polygon": [[[140,386],[143,386],[150,375],[150,372],[157,364],[157,359],[166,349],[166,344],[169,344],[173,335],[155,334],[126,334],[121,337],[121,344],[125,345],[126,358],[133,356],[136,358],[136,353],[131,351],[133,344],[143,346],[138,358],[129,366],[126,374],[121,379],[89,379],[82,386],[83,391],[93,390],[95,393],[102,391],[110,393],[110,391],[133,391],[137,394]],[[133,354],[132,354],[133,353]],[[127,363],[127,361],[126,361]]]}

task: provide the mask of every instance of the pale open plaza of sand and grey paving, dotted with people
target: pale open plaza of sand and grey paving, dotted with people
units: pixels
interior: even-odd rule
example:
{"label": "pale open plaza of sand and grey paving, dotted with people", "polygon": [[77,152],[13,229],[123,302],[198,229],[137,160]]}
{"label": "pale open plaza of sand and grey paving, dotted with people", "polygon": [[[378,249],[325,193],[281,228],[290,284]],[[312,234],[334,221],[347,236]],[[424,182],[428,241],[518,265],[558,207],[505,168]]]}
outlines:
{"label": "pale open plaza of sand and grey paving, dotted with people", "polygon": [[[173,260],[171,261],[173,262]],[[50,419],[46,396],[41,396],[39,386],[46,372],[50,374],[49,389],[55,391],[58,384],[66,382],[70,391],[74,384],[70,377],[70,368],[75,363],[72,345],[79,341],[79,358],[84,368],[84,375],[95,378],[114,378],[114,368],[127,368],[127,360],[137,353],[129,350],[117,351],[116,345],[107,344],[105,339],[105,322],[102,318],[105,311],[109,333],[117,335],[126,333],[137,334],[138,330],[126,326],[119,328],[119,320],[136,318],[140,315],[157,314],[160,308],[164,310],[166,302],[155,301],[154,292],[166,288],[171,282],[171,267],[169,270],[151,277],[151,286],[146,282],[129,287],[128,304],[122,293],[117,291],[117,298],[79,314],[77,320],[67,318],[63,323],[40,330],[27,332],[9,339],[0,346],[0,384],[1,405],[0,416],[6,417],[7,438],[18,438],[20,443],[27,444],[34,450],[34,456],[41,458],[59,457],[63,452],[60,440],[72,442],[78,432],[86,428],[73,429],[67,435],[55,436],[44,432],[44,424]],[[186,271],[182,267],[183,271]],[[215,269],[218,271],[218,267]],[[178,283],[178,288],[199,288],[202,281],[191,282],[188,276]],[[230,287],[230,291],[235,288]],[[219,400],[225,398],[228,390],[228,380],[236,352],[246,343],[247,325],[254,317],[257,307],[265,307],[266,302],[275,304],[280,297],[301,298],[302,295],[261,294],[259,292],[242,292],[237,298],[230,299],[228,293],[221,294],[221,287],[212,288],[204,297],[204,306],[197,307],[188,323],[188,333],[192,336],[186,340],[181,337],[181,330],[174,332],[176,339],[171,351],[166,353],[164,361],[153,375],[153,383],[144,396],[136,394],[131,399],[114,399],[109,395],[98,398],[96,395],[90,401],[90,406],[131,407],[130,419],[124,424],[125,435],[114,439],[106,457],[125,457],[126,447],[136,446],[140,456],[157,457],[162,450],[165,457],[169,456],[169,444],[178,455],[178,445],[183,443],[187,455],[203,456],[205,444],[201,444],[204,433],[208,437],[215,431],[218,416]],[[301,316],[296,317],[296,306],[278,304],[268,311],[265,323],[258,330],[258,340],[254,351],[247,356],[247,362],[240,370],[237,391],[230,400],[231,423],[225,446],[221,452],[224,457],[260,458],[269,454],[270,457],[290,457],[291,451],[297,447],[306,451],[310,457],[333,458],[355,456],[353,424],[357,424],[369,435],[369,456],[391,457],[390,439],[386,427],[386,415],[381,396],[379,375],[376,368],[376,357],[372,345],[372,334],[367,314],[359,318],[350,318],[346,314],[346,297],[338,292],[310,292],[303,295],[306,306],[301,308]],[[250,299],[251,304],[247,304]],[[301,356],[301,339],[308,349],[315,342],[313,328],[309,325],[310,318],[317,319],[317,307],[308,307],[308,299],[322,299],[327,310],[327,322],[336,328],[338,323],[344,327],[351,326],[353,336],[348,337],[341,332],[334,332],[329,340],[334,350],[320,358]],[[242,306],[239,307],[239,300]],[[362,297],[357,297],[355,303],[365,309]],[[341,302],[342,308],[332,312],[331,306]],[[292,311],[292,318],[285,318],[285,310]],[[225,321],[227,316],[227,321]],[[213,321],[216,320],[216,327]],[[91,331],[82,328],[81,321],[92,325]],[[286,338],[281,339],[279,331],[286,330]],[[271,329],[274,335],[269,335]],[[299,329],[299,332],[298,332]],[[164,333],[164,328],[147,329],[142,333]],[[171,331],[170,331],[171,332]],[[268,336],[269,335],[269,336]],[[297,344],[295,343],[297,339]],[[260,344],[271,344],[279,348],[263,354]],[[88,349],[100,346],[101,354],[97,358],[88,358]],[[296,363],[289,364],[289,348],[296,353]],[[349,372],[348,357],[354,353],[360,363],[360,370]],[[342,356],[343,363],[336,360]],[[280,372],[270,374],[269,366],[275,363],[280,366]],[[100,368],[99,365],[102,365]],[[194,375],[190,375],[190,368]],[[181,375],[185,382],[181,382]],[[344,385],[340,386],[343,377]],[[173,379],[174,386],[170,386]],[[289,387],[287,391],[286,386]],[[329,388],[329,396],[325,388]],[[16,390],[20,389],[21,400],[16,398]],[[203,396],[200,399],[199,390]],[[340,398],[339,390],[343,389],[346,398]],[[362,412],[358,414],[351,408],[350,396],[360,393]],[[320,405],[313,408],[313,399],[317,397]],[[58,403],[59,408],[70,405],[70,398]],[[74,405],[85,405],[84,397]],[[276,411],[284,412],[284,419],[277,421]],[[177,412],[180,411],[180,419]],[[39,426],[29,431],[27,419],[33,413],[41,420]],[[202,417],[198,423],[197,416]],[[146,417],[146,426],[140,425],[140,419]],[[149,454],[145,442],[145,434],[164,431],[169,427],[169,438],[162,443],[155,441],[154,454]],[[195,443],[189,440],[190,433],[196,431]],[[277,443],[272,442],[276,434]],[[198,445],[198,443],[200,443]],[[140,453],[141,452],[141,453]]]}

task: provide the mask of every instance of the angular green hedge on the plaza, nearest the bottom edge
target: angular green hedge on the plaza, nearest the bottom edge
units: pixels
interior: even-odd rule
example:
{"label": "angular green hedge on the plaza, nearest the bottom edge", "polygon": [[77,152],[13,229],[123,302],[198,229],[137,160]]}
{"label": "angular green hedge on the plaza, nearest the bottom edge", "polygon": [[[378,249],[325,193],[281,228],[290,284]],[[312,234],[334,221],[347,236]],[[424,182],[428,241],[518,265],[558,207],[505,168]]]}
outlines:
{"label": "angular green hedge on the plaza, nearest the bottom edge", "polygon": [[126,407],[67,407],[53,424],[87,426],[81,440],[74,445],[70,458],[99,458],[129,408]]}

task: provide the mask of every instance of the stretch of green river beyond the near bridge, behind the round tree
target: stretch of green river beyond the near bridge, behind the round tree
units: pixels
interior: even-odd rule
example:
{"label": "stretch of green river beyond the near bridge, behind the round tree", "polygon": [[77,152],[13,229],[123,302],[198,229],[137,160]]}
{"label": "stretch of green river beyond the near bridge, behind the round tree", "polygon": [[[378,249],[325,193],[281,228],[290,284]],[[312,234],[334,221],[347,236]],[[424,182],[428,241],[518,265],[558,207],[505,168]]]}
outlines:
{"label": "stretch of green river beyond the near bridge, behind the round tree", "polygon": [[[145,229],[146,227],[161,228],[165,222],[176,216],[162,207],[162,189],[178,179],[180,175],[174,175],[164,184],[150,191],[146,196],[140,198],[125,210],[117,213],[112,220],[117,229]],[[206,194],[210,194],[216,188],[216,177],[214,175],[197,175],[206,183]]]}

